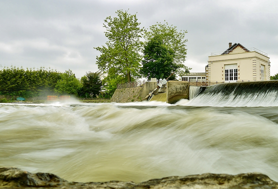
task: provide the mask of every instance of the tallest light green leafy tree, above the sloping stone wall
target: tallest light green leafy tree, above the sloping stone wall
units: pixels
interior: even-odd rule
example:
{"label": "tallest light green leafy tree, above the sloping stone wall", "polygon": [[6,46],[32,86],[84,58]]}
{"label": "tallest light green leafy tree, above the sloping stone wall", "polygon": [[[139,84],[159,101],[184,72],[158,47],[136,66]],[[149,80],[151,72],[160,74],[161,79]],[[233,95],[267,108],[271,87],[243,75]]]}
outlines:
{"label": "tallest light green leafy tree, above the sloping stone wall", "polygon": [[115,76],[126,76],[127,81],[131,81],[132,77],[139,77],[142,59],[139,52],[143,44],[140,38],[144,30],[139,28],[136,14],[131,15],[123,10],[116,13],[117,17],[109,16],[104,20],[104,33],[108,41],[105,46],[96,47],[96,50],[101,52],[101,55],[96,57],[96,64],[104,73],[113,67]]}

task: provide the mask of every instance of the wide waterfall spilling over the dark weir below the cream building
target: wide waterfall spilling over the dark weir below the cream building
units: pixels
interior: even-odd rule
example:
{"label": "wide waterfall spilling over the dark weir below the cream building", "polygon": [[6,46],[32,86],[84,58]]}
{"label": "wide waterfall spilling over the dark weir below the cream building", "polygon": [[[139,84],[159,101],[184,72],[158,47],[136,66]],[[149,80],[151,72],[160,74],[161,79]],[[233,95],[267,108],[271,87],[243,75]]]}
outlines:
{"label": "wide waterfall spilling over the dark weir below the cream building", "polygon": [[206,87],[187,105],[278,106],[278,81],[223,83]]}

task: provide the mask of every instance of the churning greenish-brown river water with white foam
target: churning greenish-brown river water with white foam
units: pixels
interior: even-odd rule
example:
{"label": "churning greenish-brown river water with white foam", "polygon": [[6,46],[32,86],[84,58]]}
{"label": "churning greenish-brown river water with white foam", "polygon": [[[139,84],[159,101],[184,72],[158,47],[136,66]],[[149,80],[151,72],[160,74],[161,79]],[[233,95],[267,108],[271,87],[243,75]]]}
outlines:
{"label": "churning greenish-brown river water with white foam", "polygon": [[206,172],[278,181],[278,102],[197,97],[176,105],[0,104],[0,166],[79,182]]}

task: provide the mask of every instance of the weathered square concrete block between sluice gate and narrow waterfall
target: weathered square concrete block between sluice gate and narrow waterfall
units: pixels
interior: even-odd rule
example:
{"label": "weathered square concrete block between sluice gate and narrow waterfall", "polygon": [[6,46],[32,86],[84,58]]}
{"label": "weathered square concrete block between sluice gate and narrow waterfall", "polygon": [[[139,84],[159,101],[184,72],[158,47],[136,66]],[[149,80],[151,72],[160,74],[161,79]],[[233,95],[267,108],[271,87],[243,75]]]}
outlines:
{"label": "weathered square concrete block between sluice gate and narrow waterfall", "polygon": [[173,104],[180,99],[189,99],[188,81],[168,81],[166,99],[167,103]]}

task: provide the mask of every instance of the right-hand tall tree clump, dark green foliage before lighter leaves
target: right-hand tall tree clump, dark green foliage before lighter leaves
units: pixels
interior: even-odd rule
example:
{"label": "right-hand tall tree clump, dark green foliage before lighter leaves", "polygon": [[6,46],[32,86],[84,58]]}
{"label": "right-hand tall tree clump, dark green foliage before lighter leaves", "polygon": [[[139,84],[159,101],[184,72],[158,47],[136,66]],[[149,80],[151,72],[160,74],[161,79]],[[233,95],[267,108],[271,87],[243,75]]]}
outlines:
{"label": "right-hand tall tree clump, dark green foliage before lighter leaves", "polygon": [[145,31],[144,59],[142,60],[142,75],[147,78],[176,78],[176,74],[189,72],[184,65],[186,58],[185,34],[187,31],[177,31],[176,26],[168,23],[157,23]]}

